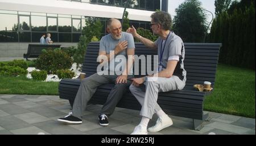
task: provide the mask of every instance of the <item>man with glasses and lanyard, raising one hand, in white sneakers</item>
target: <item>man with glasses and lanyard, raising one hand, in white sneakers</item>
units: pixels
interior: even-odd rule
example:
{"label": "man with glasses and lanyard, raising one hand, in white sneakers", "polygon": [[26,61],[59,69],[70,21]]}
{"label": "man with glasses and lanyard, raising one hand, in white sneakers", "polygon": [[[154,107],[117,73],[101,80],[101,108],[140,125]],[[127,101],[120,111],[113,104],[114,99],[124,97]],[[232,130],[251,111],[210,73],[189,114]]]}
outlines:
{"label": "man with glasses and lanyard, raising one hand, in white sneakers", "polygon": [[[154,34],[159,35],[155,42],[138,35],[134,27],[127,30],[148,48],[158,49],[159,62],[158,73],[154,77],[134,78],[130,86],[131,93],[142,105],[141,123],[134,128],[131,134],[146,135],[147,131],[158,132],[172,125],[172,119],[157,103],[159,92],[182,90],[186,81],[183,64],[185,48],[181,38],[170,30],[171,21],[171,15],[168,12],[154,12],[151,15],[151,29]],[[143,86],[143,83],[146,86]],[[143,87],[146,91],[143,91]],[[147,129],[148,122],[155,113],[159,118],[155,126]]]}

